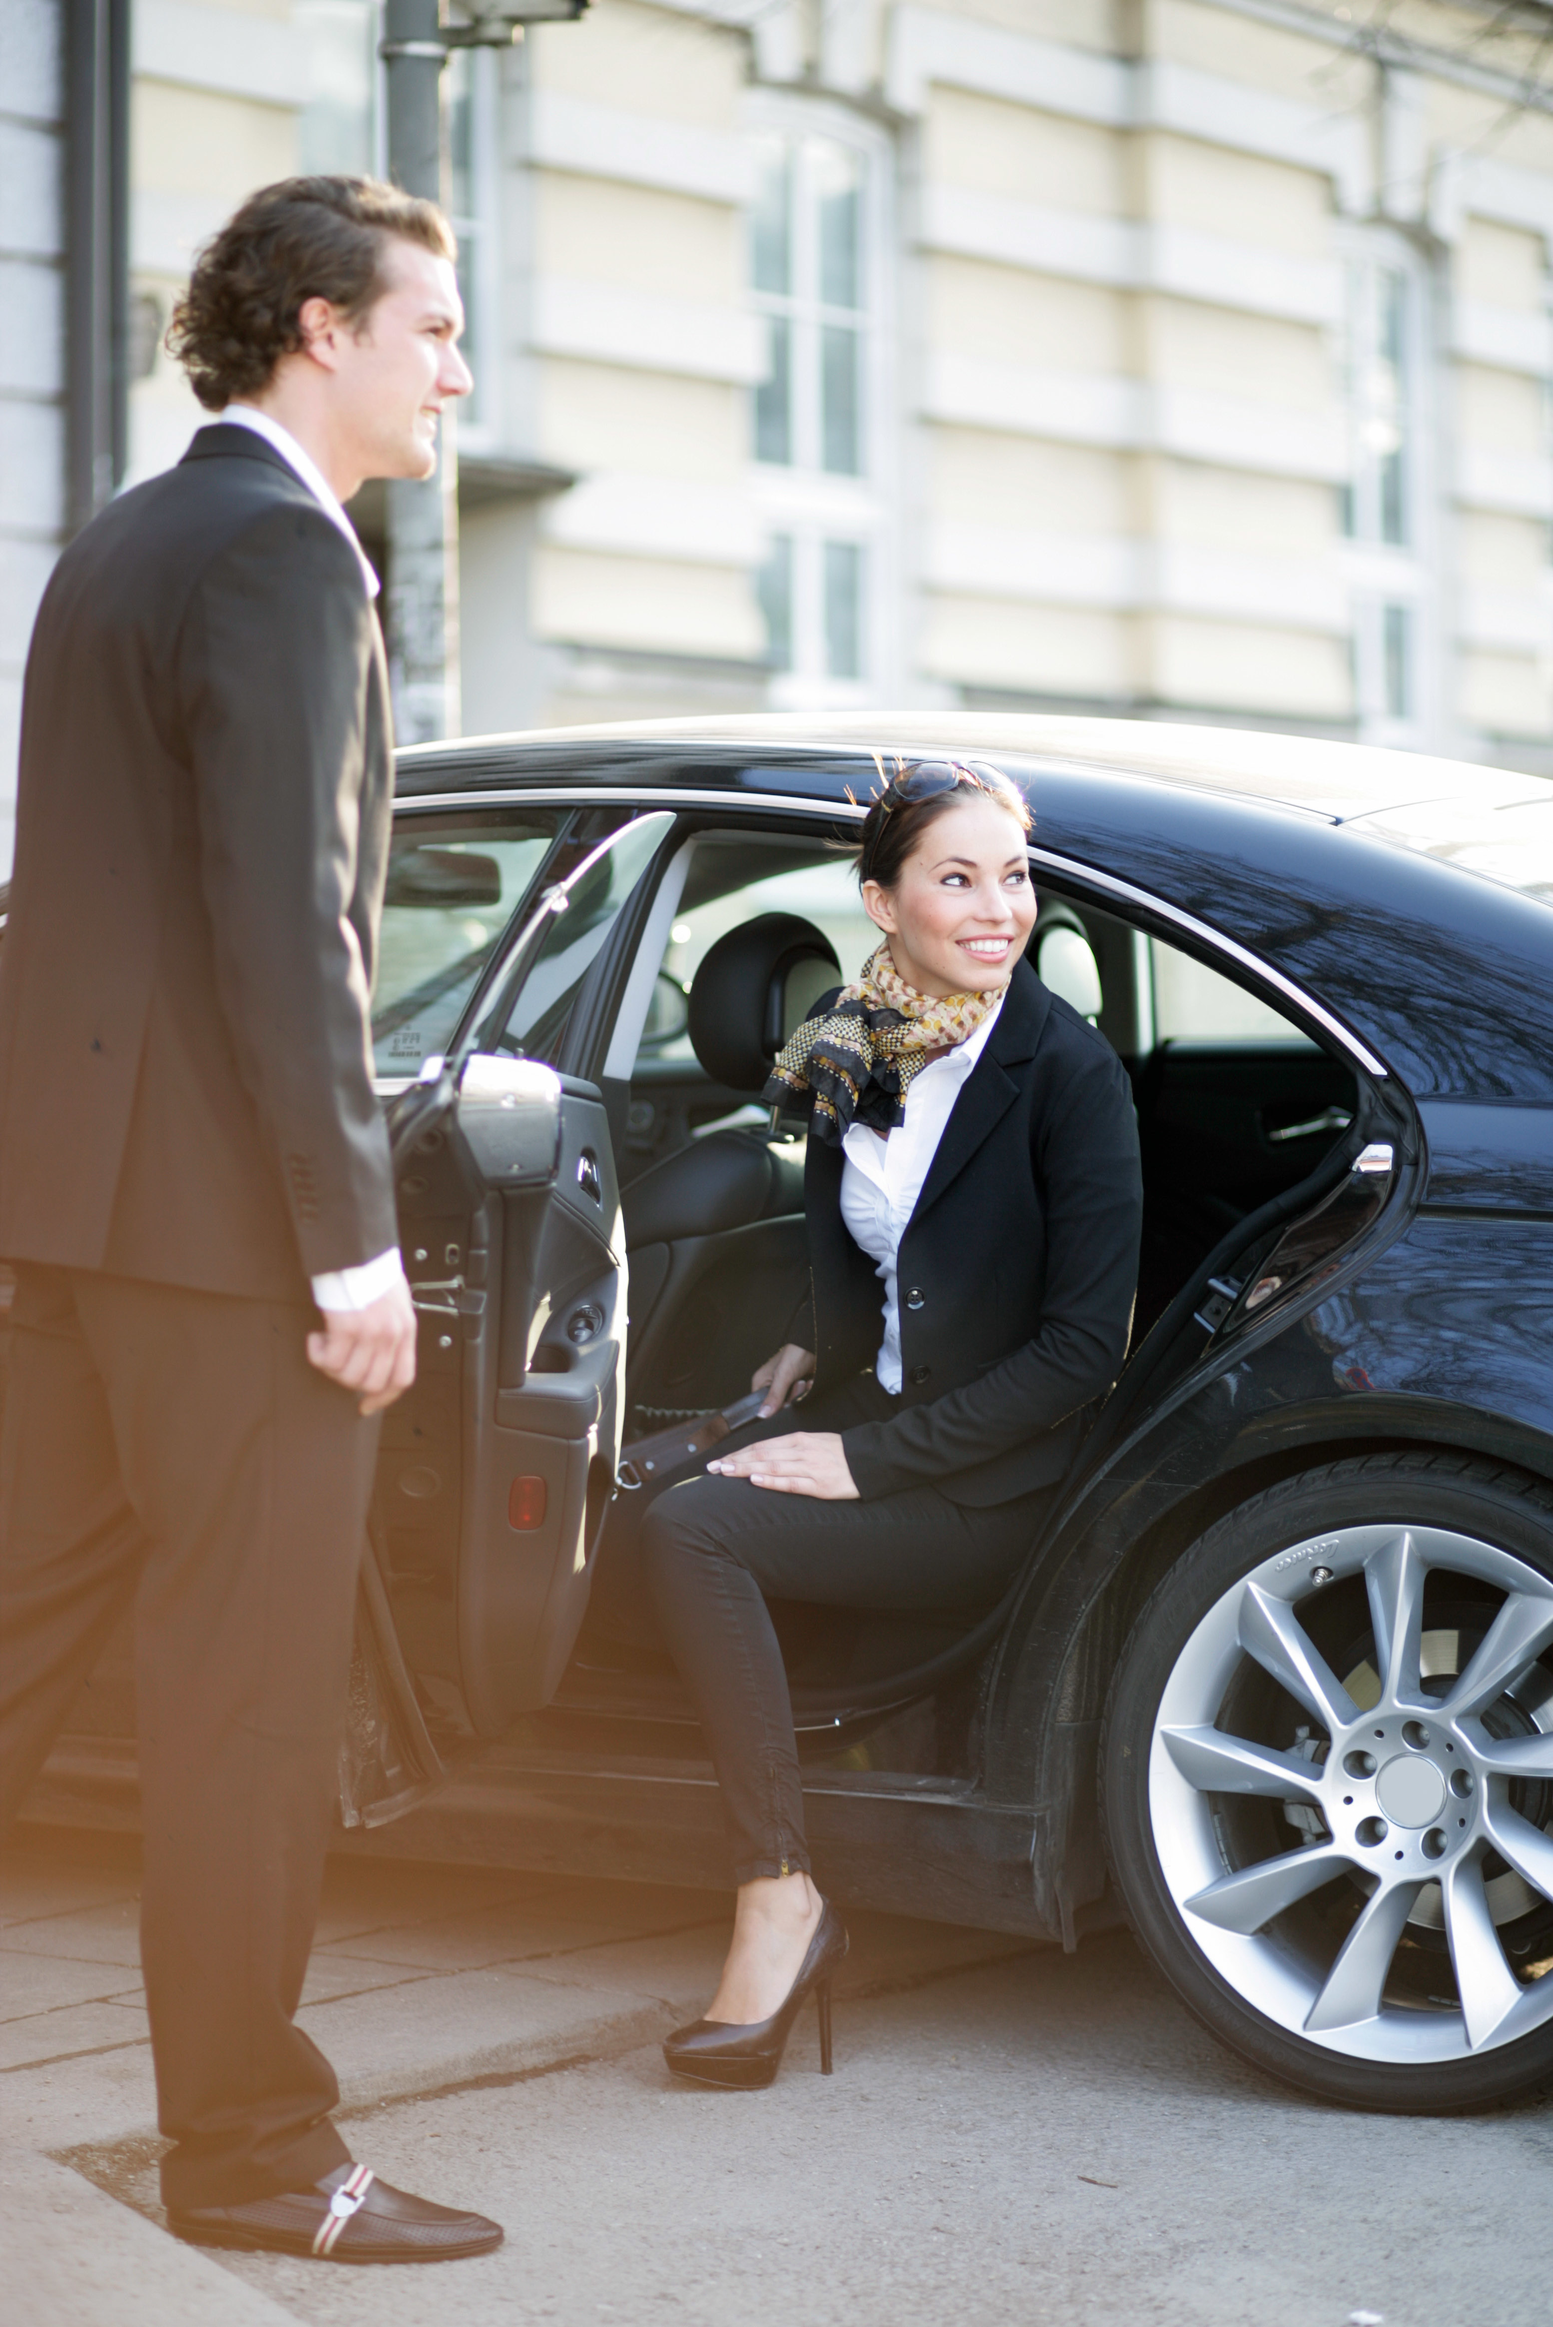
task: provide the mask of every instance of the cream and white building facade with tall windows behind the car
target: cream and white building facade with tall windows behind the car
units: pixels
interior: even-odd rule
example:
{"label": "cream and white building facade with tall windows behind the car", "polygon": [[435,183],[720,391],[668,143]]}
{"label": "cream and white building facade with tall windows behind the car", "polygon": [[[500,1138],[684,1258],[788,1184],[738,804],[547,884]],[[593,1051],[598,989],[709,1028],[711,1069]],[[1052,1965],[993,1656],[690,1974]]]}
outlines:
{"label": "cream and white building facade with tall windows behind the car", "polygon": [[[1027,705],[1553,773],[1548,14],[594,0],[456,54],[466,733]],[[377,37],[133,0],[130,479],[198,421],[198,242],[382,163]]]}

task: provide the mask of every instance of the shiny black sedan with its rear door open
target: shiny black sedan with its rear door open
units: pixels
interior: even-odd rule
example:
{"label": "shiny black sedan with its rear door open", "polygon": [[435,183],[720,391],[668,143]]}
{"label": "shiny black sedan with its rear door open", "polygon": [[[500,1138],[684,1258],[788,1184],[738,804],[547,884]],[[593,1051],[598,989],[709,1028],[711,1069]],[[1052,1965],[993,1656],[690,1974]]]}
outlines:
{"label": "shiny black sedan with its rear door open", "polygon": [[[1064,1948],[1125,1915],[1225,2043],[1327,2099],[1534,2087],[1534,777],[948,714],[405,752],[375,1038],[421,1371],[384,1429],[342,1845],[726,1880],[673,1668],[589,1629],[589,1585],[638,1508],[622,1450],[708,1443],[803,1282],[803,1126],[759,1087],[864,956],[875,747],[1027,789],[1031,959],[1132,1075],[1146,1240],[1132,1357],[1001,1606],[775,1610],[820,1880]],[[37,1813],[133,1817],[128,1736],[116,1648]]]}

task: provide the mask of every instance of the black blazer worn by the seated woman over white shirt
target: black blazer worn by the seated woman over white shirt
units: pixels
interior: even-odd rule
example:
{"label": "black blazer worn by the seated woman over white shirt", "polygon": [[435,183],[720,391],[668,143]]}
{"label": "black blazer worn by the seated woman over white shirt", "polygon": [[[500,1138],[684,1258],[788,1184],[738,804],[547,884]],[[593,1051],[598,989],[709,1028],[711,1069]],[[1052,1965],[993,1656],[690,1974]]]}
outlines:
{"label": "black blazer worn by the seated woman over white shirt", "polygon": [[[882,1333],[841,1166],[841,1147],[810,1138],[817,1392],[868,1368]],[[901,1238],[901,1412],[843,1431],[864,1501],[934,1485],[1006,1503],[1062,1478],[1127,1354],[1141,1222],[1122,1063],[1020,961]]]}

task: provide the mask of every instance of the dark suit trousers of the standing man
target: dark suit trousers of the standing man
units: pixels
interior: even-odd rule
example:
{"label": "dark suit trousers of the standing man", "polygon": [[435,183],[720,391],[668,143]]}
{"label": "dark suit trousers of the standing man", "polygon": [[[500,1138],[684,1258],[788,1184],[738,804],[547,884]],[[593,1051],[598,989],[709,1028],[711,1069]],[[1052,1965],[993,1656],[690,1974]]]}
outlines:
{"label": "dark suit trousers of the standing man", "polygon": [[23,1264],[0,1431],[0,1820],[133,1603],[140,1943],[170,2206],[347,2155],[293,2024],[377,1424],[310,1312]]}

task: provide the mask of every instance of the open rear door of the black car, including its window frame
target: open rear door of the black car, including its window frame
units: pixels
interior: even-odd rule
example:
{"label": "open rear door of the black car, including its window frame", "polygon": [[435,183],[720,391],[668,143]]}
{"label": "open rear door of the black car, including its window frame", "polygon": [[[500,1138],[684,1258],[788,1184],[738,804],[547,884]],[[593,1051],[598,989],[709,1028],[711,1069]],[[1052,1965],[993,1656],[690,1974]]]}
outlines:
{"label": "open rear door of the black car, including its window frame", "polygon": [[389,1110],[421,1331],[414,1389],[384,1415],[363,1631],[377,1601],[368,1648],[412,1776],[547,1703],[587,1610],[619,1461],[626,1261],[603,1094],[549,1061],[596,1008],[671,824],[622,824],[545,889],[449,1054]]}

